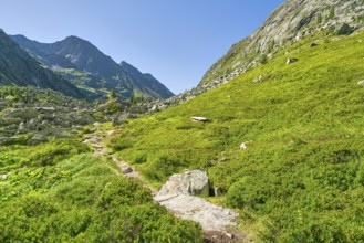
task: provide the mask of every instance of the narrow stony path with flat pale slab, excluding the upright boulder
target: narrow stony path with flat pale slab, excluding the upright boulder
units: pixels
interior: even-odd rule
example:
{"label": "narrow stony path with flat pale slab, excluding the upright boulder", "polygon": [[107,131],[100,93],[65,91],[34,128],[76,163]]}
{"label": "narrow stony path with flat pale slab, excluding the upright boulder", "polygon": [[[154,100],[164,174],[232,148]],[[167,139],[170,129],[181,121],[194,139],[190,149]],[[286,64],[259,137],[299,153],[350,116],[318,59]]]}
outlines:
{"label": "narrow stony path with flat pale slab, excluding the upright boulder", "polygon": [[149,184],[143,182],[139,172],[127,162],[108,154],[106,147],[103,145],[103,141],[107,137],[115,135],[115,133],[117,131],[96,131],[87,135],[83,142],[95,148],[95,156],[112,159],[118,166],[118,170],[111,166],[108,166],[108,168],[116,175],[142,181],[144,187],[150,189],[154,200],[166,207],[166,209],[176,216],[198,222],[204,230],[206,243],[249,242],[249,240],[241,234],[232,233],[233,230],[231,230],[231,226],[236,225],[235,220],[238,218],[238,213],[230,209],[215,205],[205,199],[193,196],[175,194],[173,197],[155,197],[157,191]]}

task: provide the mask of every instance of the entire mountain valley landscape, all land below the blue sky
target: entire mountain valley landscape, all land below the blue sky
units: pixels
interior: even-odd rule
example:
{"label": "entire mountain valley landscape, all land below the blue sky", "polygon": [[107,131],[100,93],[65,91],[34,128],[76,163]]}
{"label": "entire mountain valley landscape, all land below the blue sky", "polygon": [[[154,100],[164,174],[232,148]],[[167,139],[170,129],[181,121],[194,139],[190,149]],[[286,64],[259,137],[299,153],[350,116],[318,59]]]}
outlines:
{"label": "entire mountain valley landscape, all land below the blue sky", "polygon": [[363,11],[289,0],[175,96],[0,31],[0,242],[363,242]]}

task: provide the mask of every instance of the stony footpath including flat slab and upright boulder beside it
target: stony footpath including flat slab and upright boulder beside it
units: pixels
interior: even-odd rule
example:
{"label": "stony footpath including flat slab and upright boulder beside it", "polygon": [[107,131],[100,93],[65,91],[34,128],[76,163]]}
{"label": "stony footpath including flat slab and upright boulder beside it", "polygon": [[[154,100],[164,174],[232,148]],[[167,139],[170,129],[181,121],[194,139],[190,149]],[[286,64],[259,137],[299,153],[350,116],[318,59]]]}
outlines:
{"label": "stony footpath including flat slab and upright boulder beside it", "polygon": [[[95,156],[112,159],[119,168],[117,170],[110,167],[116,175],[142,181],[139,172],[135,168],[111,155],[103,145],[105,138],[116,133],[115,130],[107,133],[95,131],[87,135],[83,142],[95,148]],[[237,225],[236,220],[239,216],[237,212],[196,197],[197,194],[208,196],[209,193],[209,182],[205,171],[193,170],[174,175],[158,192],[145,182],[143,183],[150,189],[154,200],[164,205],[169,212],[178,218],[198,222],[204,230],[206,242],[248,241],[247,237],[232,233],[235,232],[233,226]]]}

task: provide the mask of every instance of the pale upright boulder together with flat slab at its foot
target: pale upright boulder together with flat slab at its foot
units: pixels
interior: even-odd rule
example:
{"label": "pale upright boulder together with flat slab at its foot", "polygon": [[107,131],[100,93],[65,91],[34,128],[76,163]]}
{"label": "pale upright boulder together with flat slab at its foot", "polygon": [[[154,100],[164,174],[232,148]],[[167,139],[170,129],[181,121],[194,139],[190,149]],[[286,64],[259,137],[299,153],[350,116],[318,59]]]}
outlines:
{"label": "pale upright boulder together with flat slab at its foot", "polygon": [[171,176],[154,200],[175,215],[200,223],[205,231],[223,231],[236,225],[239,216],[232,210],[215,205],[195,194],[208,194],[209,181],[201,170],[185,171]]}

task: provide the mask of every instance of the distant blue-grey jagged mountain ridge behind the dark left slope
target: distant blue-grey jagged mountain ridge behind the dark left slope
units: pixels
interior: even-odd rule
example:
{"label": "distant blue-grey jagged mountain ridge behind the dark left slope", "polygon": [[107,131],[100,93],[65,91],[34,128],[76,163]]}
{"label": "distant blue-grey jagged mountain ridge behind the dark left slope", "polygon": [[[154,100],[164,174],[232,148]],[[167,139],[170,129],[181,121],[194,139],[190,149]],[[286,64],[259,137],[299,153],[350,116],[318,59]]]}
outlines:
{"label": "distant blue-grey jagged mountain ridge behind the dark left slope", "polygon": [[[23,35],[11,38],[40,62],[80,87],[114,89],[126,97],[135,95],[168,98],[174,95],[150,74],[143,74],[126,62],[117,64],[89,41],[80,38],[69,36],[50,44],[31,41]],[[80,76],[80,73],[83,73],[83,76],[89,74],[90,78],[80,83],[72,73],[79,73],[76,76]]]}

